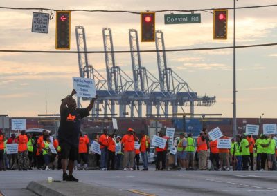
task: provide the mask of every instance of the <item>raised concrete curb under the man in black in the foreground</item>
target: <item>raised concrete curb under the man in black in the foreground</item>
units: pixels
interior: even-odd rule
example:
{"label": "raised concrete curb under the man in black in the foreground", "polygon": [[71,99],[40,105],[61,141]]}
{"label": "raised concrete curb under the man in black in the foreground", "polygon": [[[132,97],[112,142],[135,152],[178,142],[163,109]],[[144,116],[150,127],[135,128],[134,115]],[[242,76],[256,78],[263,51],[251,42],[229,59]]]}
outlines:
{"label": "raised concrete curb under the man in black in the foreground", "polygon": [[82,182],[30,182],[27,189],[40,196],[129,195],[113,188],[84,184]]}

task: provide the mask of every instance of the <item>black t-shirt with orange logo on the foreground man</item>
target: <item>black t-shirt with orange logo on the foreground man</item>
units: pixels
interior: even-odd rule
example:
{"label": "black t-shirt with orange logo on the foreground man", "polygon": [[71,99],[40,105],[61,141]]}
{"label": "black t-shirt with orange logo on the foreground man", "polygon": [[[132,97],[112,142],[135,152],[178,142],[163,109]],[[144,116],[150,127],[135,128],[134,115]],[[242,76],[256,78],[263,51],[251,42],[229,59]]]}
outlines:
{"label": "black t-shirt with orange logo on the foreground man", "polygon": [[78,148],[81,119],[88,115],[87,108],[64,109],[60,114],[59,142],[66,142]]}

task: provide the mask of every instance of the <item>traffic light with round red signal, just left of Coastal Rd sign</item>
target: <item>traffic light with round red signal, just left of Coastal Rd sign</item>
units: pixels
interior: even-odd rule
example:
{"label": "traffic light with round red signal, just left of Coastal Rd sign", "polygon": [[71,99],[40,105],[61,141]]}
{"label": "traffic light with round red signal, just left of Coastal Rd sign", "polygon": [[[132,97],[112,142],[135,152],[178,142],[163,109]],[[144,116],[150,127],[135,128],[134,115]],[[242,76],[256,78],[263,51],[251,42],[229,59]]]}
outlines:
{"label": "traffic light with round red signal, just left of Coastal Rd sign", "polygon": [[141,12],[141,42],[155,41],[155,12]]}

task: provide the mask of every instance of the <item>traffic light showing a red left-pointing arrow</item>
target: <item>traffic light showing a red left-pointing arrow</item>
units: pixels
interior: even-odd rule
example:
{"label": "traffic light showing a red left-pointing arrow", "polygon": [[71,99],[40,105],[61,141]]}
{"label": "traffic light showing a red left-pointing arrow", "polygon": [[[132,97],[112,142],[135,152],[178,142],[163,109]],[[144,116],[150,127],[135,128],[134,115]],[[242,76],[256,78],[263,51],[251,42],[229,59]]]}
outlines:
{"label": "traffic light showing a red left-pointing arrow", "polygon": [[70,12],[56,12],[56,49],[70,49]]}

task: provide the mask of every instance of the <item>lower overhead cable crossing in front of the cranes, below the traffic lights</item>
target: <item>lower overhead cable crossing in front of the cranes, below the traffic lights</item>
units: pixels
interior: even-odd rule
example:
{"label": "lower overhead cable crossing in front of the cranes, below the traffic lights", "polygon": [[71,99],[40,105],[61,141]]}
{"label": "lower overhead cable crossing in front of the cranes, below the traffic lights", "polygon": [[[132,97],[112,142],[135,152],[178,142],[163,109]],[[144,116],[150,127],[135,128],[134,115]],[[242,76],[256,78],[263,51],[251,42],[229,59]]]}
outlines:
{"label": "lower overhead cable crossing in front of the cranes, below the traffic lights", "polygon": [[[254,48],[254,47],[264,47],[264,46],[277,46],[277,43],[264,43],[264,44],[254,44],[254,45],[243,45],[235,46],[235,48]],[[231,49],[233,46],[225,47],[213,47],[213,48],[181,48],[181,49],[167,49],[167,50],[140,50],[140,51],[130,51],[130,50],[116,50],[116,51],[55,51],[55,50],[0,50],[0,52],[14,52],[14,53],[67,53],[67,54],[77,54],[77,53],[87,53],[87,54],[104,54],[104,53],[130,53],[130,52],[183,52],[183,51],[199,51],[199,50],[220,50],[220,49]]]}

